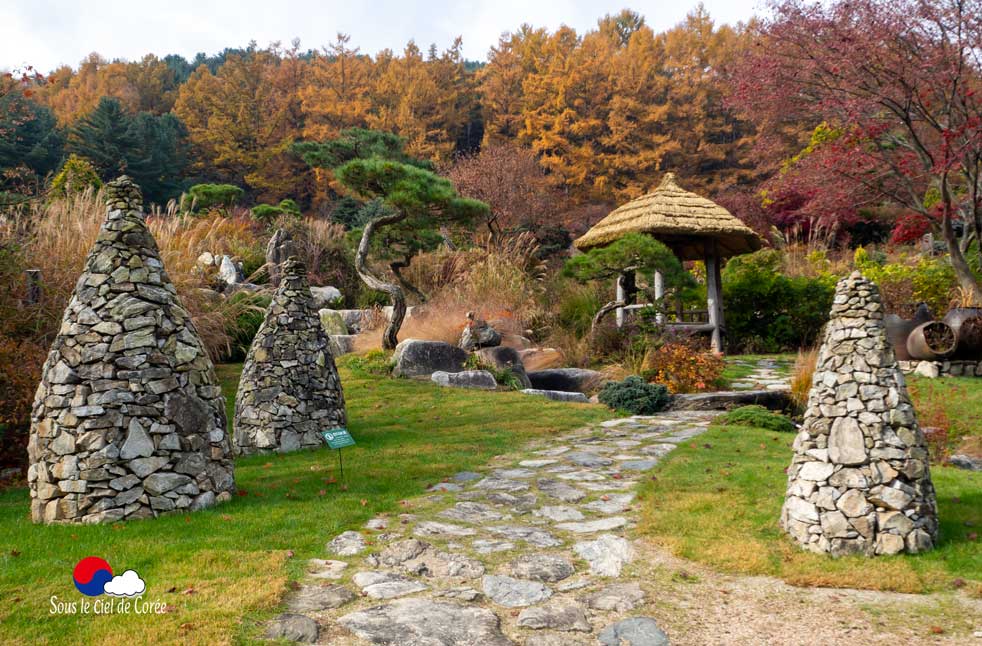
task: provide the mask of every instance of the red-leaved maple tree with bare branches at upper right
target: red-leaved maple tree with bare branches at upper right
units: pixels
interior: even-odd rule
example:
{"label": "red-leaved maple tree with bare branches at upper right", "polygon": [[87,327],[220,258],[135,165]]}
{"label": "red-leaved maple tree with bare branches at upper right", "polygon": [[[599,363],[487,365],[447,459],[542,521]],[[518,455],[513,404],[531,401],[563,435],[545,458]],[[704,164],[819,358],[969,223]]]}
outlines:
{"label": "red-leaved maple tree with bare branches at upper right", "polygon": [[733,70],[731,101],[764,137],[822,124],[775,185],[817,212],[902,206],[943,236],[959,284],[982,300],[966,260],[982,233],[982,0],[771,10]]}

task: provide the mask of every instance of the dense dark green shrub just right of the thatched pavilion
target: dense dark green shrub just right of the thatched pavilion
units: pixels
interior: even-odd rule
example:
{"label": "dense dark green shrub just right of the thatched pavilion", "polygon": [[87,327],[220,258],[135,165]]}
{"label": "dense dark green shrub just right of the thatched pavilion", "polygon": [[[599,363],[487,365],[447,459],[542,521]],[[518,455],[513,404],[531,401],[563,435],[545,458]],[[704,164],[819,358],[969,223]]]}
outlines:
{"label": "dense dark green shrub just right of the thatched pavilion", "polygon": [[773,249],[739,256],[723,270],[731,351],[792,352],[814,345],[828,320],[836,276],[789,277]]}

